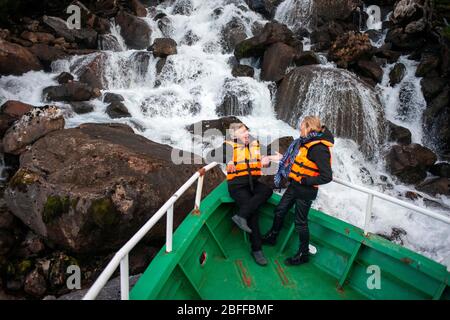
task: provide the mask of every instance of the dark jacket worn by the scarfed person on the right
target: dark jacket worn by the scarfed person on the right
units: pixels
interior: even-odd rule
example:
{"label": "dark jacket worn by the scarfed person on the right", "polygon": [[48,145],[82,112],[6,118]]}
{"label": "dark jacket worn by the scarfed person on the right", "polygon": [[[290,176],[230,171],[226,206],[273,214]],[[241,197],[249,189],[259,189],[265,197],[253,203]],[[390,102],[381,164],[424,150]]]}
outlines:
{"label": "dark jacket worn by the scarfed person on the right", "polygon": [[[325,128],[324,134],[317,137],[316,140],[327,140],[334,144],[334,137],[328,128]],[[312,140],[314,141],[314,140]],[[313,145],[308,151],[308,159],[313,161],[319,168],[319,175],[317,177],[304,177],[301,183],[290,179],[290,183],[295,185],[295,189],[301,192],[302,197],[308,199],[315,199],[317,197],[317,188],[313,185],[321,185],[329,183],[333,180],[333,171],[330,163],[330,150],[324,144]]]}

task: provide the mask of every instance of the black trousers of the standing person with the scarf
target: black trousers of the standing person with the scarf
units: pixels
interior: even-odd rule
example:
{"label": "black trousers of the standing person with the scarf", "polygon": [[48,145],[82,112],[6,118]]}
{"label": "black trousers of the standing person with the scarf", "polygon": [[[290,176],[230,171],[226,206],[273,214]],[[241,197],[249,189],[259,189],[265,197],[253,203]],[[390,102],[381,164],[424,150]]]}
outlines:
{"label": "black trousers of the standing person with the scarf", "polygon": [[299,233],[300,248],[299,251],[302,253],[309,252],[309,228],[308,228],[308,213],[311,208],[312,201],[317,195],[317,191],[311,193],[303,192],[304,186],[299,185],[296,182],[291,182],[281,197],[278,206],[274,211],[274,221],[272,226],[272,231],[279,233],[283,227],[284,217],[288,211],[295,204],[295,229]]}

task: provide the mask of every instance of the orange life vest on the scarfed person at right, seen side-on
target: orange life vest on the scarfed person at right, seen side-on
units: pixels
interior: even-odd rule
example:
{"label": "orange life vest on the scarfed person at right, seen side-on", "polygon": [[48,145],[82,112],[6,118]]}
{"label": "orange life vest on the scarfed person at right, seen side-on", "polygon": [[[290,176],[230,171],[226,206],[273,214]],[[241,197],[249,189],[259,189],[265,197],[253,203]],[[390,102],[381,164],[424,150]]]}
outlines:
{"label": "orange life vest on the scarfed person at right, seen side-on", "polygon": [[[289,173],[289,178],[300,182],[302,177],[317,177],[319,176],[319,167],[317,164],[308,159],[308,151],[309,149],[316,145],[322,143],[326,145],[328,148],[331,148],[333,144],[327,140],[316,140],[306,143],[305,145],[300,147],[297,156],[295,157],[294,163],[291,167],[291,172]],[[330,150],[330,164],[331,164],[331,150]],[[318,186],[314,186],[318,188]]]}

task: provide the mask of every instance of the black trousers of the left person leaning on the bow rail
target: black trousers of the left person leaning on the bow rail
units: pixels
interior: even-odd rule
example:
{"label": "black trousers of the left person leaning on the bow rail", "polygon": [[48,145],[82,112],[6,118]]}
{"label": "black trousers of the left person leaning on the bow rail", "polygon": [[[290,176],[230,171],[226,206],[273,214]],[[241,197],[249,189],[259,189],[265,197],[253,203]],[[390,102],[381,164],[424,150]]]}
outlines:
{"label": "black trousers of the left person leaning on the bow rail", "polygon": [[252,251],[261,250],[258,209],[270,198],[272,189],[264,183],[254,181],[253,191],[250,189],[250,185],[244,184],[228,185],[228,192],[239,208],[237,214],[247,219],[247,224],[252,229],[252,233],[250,233]]}

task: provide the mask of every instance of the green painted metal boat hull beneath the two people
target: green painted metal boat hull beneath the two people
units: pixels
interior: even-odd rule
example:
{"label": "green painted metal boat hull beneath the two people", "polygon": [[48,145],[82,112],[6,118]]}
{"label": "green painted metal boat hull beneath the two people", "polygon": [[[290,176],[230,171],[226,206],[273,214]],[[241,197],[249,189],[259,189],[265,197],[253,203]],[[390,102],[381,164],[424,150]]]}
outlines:
{"label": "green painted metal boat hull beneath the two people", "polygon": [[[263,232],[272,224],[274,194],[260,210]],[[310,262],[288,267],[298,248],[290,212],[269,260],[259,266],[246,235],[231,221],[235,204],[220,184],[177,228],[173,251],[165,247],[130,292],[131,299],[449,299],[445,266],[344,221],[311,209]],[[206,259],[203,259],[206,254]],[[203,258],[202,258],[203,257]],[[380,269],[376,275],[368,267]],[[369,285],[368,285],[369,282]],[[372,286],[371,286],[372,284]]]}

